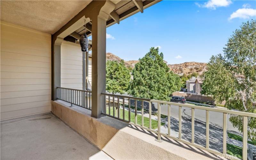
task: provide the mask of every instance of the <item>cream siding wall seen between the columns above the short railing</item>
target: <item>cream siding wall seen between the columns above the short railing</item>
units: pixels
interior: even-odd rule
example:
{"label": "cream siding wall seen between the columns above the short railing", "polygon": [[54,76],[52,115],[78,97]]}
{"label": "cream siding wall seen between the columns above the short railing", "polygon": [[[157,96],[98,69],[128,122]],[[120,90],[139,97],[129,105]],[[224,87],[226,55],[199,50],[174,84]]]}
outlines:
{"label": "cream siding wall seen between the columns above the short railing", "polygon": [[[83,89],[83,55],[80,44],[63,41],[61,44],[61,87]],[[89,58],[89,81],[92,78],[92,60]]]}

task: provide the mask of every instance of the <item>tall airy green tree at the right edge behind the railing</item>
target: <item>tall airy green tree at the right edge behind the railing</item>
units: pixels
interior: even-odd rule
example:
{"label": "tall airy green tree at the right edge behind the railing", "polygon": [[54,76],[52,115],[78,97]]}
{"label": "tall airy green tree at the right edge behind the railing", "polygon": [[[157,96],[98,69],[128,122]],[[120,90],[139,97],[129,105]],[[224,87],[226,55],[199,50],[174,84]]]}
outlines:
{"label": "tall airy green tree at the right edge behind the railing", "polygon": [[[224,57],[212,56],[204,73],[202,93],[225,107],[256,114],[256,20],[243,23],[223,48]],[[231,115],[234,127],[243,131],[243,116]],[[256,139],[256,118],[248,118],[248,137]]]}

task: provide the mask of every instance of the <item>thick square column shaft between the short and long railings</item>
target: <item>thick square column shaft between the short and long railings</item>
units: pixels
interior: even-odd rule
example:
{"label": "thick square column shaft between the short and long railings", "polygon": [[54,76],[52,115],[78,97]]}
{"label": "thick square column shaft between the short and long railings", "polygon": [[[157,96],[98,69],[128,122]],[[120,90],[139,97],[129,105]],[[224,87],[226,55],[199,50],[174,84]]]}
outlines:
{"label": "thick square column shaft between the short and long railings", "polygon": [[99,118],[105,112],[106,92],[106,19],[92,19],[92,117]]}

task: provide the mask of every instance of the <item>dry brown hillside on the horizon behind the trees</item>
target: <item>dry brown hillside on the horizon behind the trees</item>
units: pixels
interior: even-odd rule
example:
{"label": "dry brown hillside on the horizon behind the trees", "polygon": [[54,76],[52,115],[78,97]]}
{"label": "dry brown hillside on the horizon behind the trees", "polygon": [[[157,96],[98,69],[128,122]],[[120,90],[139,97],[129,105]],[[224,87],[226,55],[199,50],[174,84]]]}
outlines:
{"label": "dry brown hillside on the horizon behind the trees", "polygon": [[[113,53],[106,53],[106,60],[116,60],[121,62],[121,58],[114,55]],[[139,60],[124,60],[124,65],[127,68],[134,68],[135,64],[138,63]],[[166,62],[167,63],[167,62]],[[185,62],[181,64],[168,64],[170,70],[174,73],[179,74],[180,76],[183,74],[191,74],[193,72],[199,73],[201,75],[204,71],[207,70],[206,68],[207,63],[200,63],[200,62]]]}

